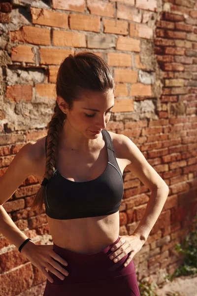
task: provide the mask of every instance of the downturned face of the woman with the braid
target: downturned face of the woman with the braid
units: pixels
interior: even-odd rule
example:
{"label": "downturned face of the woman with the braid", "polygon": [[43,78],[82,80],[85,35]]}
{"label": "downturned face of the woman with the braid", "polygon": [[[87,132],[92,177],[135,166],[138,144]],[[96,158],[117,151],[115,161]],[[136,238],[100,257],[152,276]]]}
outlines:
{"label": "downturned face of the woman with the braid", "polygon": [[82,134],[88,139],[95,139],[105,129],[114,105],[113,89],[106,93],[84,91],[80,101],[74,101],[72,109],[66,109],[66,128]]}

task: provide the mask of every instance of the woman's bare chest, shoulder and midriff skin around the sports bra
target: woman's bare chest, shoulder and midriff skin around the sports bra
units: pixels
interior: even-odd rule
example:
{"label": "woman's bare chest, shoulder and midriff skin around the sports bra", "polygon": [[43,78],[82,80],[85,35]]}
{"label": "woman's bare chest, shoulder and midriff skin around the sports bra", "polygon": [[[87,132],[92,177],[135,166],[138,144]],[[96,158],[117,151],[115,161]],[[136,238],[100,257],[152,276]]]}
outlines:
{"label": "woman's bare chest, shoulder and midriff skin around the sports bra", "polygon": [[[109,132],[109,134],[112,139],[118,166],[123,174],[128,160],[121,158],[121,149],[117,141],[119,135],[112,132]],[[63,151],[60,145],[56,165],[59,173],[67,180],[73,182],[83,182],[98,178],[104,172],[108,161],[106,145],[102,135],[100,136],[97,147],[87,155],[81,155],[80,152],[76,153],[65,148]],[[37,146],[39,145],[40,151],[42,150],[42,159],[37,164],[36,172],[34,173],[40,183],[45,171],[45,138],[40,139],[36,143]],[[119,211],[111,215],[68,220],[53,219],[47,216],[47,221],[54,243],[77,253],[97,253],[112,244],[119,235]]]}

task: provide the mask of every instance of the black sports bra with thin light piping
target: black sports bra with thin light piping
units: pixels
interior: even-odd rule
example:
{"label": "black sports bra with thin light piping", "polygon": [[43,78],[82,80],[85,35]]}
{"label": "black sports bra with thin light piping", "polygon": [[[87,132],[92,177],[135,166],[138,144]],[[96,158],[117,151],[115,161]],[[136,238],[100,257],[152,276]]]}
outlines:
{"label": "black sports bra with thin light piping", "polygon": [[[110,134],[106,130],[101,133],[108,154],[104,172],[94,180],[74,182],[63,177],[56,169],[46,185],[44,203],[47,216],[67,220],[118,212],[124,190],[122,173]],[[45,148],[46,145],[47,142]]]}

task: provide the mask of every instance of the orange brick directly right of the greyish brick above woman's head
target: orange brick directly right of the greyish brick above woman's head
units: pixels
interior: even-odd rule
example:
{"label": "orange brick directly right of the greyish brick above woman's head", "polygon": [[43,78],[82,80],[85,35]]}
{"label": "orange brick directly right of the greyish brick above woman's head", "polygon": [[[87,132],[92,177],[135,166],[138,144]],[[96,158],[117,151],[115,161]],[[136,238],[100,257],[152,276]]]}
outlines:
{"label": "orange brick directly right of the greyish brick above woman's head", "polygon": [[139,52],[140,40],[130,37],[118,37],[116,49]]}

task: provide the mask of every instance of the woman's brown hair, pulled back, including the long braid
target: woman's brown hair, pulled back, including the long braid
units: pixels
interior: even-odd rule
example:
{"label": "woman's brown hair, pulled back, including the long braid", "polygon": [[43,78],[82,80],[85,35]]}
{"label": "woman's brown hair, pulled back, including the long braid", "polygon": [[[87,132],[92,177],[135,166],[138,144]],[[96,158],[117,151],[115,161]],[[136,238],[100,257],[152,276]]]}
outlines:
{"label": "woman's brown hair, pulled back, including the long braid", "polygon": [[[115,89],[113,75],[107,63],[98,55],[82,51],[75,55],[69,54],[61,63],[56,80],[57,96],[62,97],[72,108],[73,101],[80,99],[83,90],[106,92]],[[66,114],[55,102],[54,114],[47,128],[47,151],[46,166],[43,178],[49,180],[55,171],[56,151],[59,136],[66,120]],[[44,181],[47,181],[44,179]],[[42,212],[46,186],[41,185],[35,195],[31,210],[38,207],[39,214]]]}

